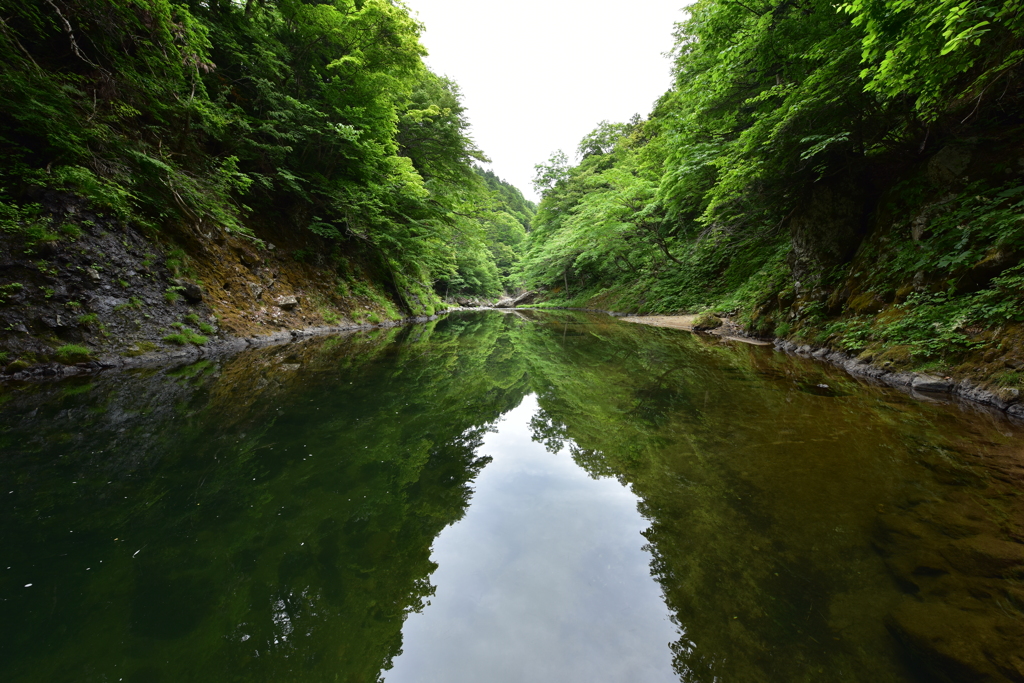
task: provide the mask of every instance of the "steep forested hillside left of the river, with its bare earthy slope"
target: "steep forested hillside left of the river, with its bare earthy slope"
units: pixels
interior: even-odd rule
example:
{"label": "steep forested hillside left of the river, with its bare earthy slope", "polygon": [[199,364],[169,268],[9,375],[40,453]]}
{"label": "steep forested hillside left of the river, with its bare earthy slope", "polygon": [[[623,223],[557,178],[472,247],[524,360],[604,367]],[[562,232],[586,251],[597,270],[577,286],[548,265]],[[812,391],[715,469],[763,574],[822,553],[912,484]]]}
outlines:
{"label": "steep forested hillside left of the river, with its bare earthy slope", "polygon": [[[189,314],[236,332],[509,287],[532,207],[474,168],[459,88],[424,66],[420,31],[388,0],[0,1],[7,360],[59,341],[17,330],[102,346],[89,315],[113,325],[110,307],[90,290],[156,314],[118,293],[162,278],[171,304],[198,287],[211,308]],[[37,304],[60,323],[32,319]]]}

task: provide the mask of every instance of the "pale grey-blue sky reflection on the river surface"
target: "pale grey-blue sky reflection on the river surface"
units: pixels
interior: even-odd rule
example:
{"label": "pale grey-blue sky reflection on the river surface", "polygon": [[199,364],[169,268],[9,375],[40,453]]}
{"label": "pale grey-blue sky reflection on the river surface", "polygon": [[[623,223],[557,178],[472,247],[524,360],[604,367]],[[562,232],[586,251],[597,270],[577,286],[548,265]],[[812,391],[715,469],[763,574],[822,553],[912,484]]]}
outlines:
{"label": "pale grey-blue sky reflection on the river surface", "polygon": [[537,411],[527,396],[486,436],[494,462],[434,543],[436,595],[387,683],[678,681],[637,498],[535,443]]}

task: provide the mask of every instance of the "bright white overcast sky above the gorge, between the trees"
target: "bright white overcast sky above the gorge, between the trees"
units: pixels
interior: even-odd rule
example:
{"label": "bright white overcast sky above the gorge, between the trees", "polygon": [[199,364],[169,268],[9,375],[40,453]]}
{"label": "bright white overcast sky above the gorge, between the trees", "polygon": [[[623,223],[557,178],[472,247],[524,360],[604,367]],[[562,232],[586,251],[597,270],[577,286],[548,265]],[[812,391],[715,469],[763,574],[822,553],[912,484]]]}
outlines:
{"label": "bright white overcast sky above the gorge, between the trees", "polygon": [[454,79],[499,176],[537,201],[534,165],[574,157],[603,120],[645,117],[671,84],[672,32],[689,0],[407,0],[427,65]]}

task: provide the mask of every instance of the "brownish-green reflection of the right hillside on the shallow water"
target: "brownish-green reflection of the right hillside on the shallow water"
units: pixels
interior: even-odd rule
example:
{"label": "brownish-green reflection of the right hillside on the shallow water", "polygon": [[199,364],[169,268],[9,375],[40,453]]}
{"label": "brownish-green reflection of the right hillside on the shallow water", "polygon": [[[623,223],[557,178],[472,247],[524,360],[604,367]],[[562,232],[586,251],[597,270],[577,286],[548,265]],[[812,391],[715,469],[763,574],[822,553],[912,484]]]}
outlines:
{"label": "brownish-green reflection of the right hillside on the shallow water", "polygon": [[522,347],[536,439],[642,500],[681,680],[1024,680],[1019,427],[675,331]]}

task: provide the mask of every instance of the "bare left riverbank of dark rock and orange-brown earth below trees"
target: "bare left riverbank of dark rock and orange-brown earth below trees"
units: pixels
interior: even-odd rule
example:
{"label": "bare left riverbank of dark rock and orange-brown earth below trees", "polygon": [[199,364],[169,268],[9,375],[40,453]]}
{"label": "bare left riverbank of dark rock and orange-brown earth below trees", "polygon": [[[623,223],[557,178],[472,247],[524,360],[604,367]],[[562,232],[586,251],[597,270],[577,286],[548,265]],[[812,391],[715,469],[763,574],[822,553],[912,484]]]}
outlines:
{"label": "bare left riverbank of dark rock and orange-brown earth below trees", "polygon": [[339,275],[287,233],[276,245],[217,227],[155,234],[71,195],[35,199],[38,229],[0,230],[0,381],[187,361],[443,309],[375,285],[354,259]]}

